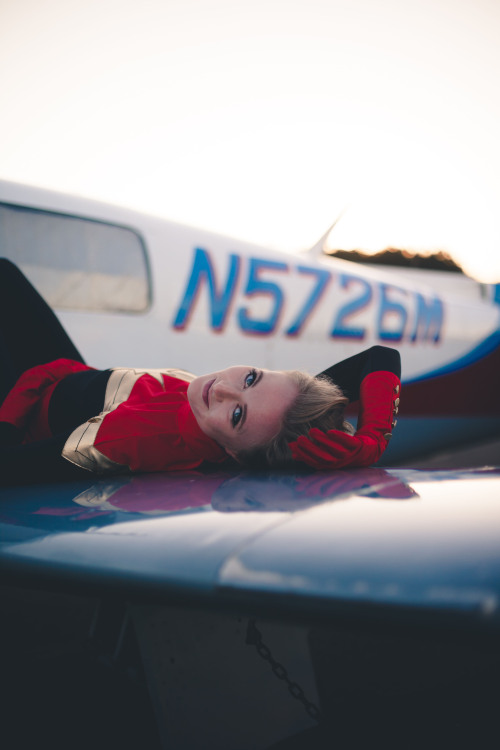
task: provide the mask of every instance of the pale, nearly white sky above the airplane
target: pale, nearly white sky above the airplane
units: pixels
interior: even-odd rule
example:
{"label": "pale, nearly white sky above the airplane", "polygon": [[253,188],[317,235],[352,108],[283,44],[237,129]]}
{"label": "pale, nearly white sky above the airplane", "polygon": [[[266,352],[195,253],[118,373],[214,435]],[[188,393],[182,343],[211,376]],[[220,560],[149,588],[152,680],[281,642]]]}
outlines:
{"label": "pale, nearly white sky above the airplane", "polygon": [[0,0],[0,178],[500,282],[499,0]]}

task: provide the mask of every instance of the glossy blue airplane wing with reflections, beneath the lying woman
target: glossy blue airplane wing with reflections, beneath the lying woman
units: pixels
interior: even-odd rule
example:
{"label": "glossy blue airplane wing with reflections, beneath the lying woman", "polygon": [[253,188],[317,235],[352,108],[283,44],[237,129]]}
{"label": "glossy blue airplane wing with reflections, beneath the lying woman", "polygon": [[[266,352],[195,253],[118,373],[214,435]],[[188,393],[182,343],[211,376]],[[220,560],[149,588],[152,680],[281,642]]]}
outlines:
{"label": "glossy blue airplane wing with reflections, beneath the lying woman", "polygon": [[2,575],[165,603],[258,597],[262,611],[279,612],[282,597],[287,612],[325,621],[384,605],[496,627],[499,488],[498,469],[376,467],[6,488]]}

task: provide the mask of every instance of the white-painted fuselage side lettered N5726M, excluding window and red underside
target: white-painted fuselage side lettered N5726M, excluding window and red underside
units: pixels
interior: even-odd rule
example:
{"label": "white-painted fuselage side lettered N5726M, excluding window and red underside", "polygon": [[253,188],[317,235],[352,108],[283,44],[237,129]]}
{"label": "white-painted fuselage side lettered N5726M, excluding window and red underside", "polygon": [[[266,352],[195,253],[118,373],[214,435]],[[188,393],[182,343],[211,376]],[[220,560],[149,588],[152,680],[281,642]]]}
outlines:
{"label": "white-painted fuselage side lettered N5726M, excluding window and red underside", "polygon": [[469,289],[458,297],[432,275],[428,286],[407,271],[270,251],[11,183],[0,182],[0,201],[116,223],[144,239],[153,285],[147,312],[58,311],[97,367],[175,365],[201,373],[246,362],[314,373],[382,343],[400,349],[404,378],[413,380],[453,368],[498,336],[500,307],[480,284],[477,296]]}

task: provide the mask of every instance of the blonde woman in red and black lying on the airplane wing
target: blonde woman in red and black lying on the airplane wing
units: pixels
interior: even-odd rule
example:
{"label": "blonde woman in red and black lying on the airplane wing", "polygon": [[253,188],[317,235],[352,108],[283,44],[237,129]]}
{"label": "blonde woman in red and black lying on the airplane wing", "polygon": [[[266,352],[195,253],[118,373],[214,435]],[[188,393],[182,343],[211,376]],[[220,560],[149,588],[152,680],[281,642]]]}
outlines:
{"label": "blonde woman in red and black lying on the airplane wing", "polygon": [[[237,365],[97,370],[19,269],[0,260],[0,482],[88,472],[369,466],[398,411],[401,364],[375,346],[316,377]],[[360,401],[358,428],[344,420]]]}

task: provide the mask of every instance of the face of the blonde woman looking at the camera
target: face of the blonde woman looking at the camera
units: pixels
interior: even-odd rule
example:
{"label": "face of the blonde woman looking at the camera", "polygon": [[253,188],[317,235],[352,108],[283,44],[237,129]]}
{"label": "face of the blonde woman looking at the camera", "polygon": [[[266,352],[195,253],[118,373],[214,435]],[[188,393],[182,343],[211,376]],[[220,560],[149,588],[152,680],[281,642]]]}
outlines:
{"label": "face of the blonde woman looking at the camera", "polygon": [[297,393],[286,372],[243,365],[201,375],[187,390],[201,430],[231,456],[277,435]]}

